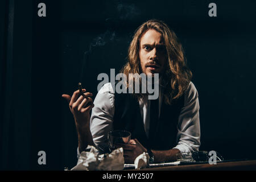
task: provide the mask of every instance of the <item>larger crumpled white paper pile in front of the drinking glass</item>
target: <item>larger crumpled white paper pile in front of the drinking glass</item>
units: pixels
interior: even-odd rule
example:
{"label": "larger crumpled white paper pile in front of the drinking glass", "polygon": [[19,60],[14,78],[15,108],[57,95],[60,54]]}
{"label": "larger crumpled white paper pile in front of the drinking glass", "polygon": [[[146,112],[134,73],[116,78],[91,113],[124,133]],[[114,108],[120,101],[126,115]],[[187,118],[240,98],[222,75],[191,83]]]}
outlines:
{"label": "larger crumpled white paper pile in front of the drinking glass", "polygon": [[81,152],[77,165],[71,170],[77,171],[118,171],[122,170],[125,165],[123,158],[123,148],[117,148],[110,154],[99,155],[94,146],[86,148],[89,151]]}

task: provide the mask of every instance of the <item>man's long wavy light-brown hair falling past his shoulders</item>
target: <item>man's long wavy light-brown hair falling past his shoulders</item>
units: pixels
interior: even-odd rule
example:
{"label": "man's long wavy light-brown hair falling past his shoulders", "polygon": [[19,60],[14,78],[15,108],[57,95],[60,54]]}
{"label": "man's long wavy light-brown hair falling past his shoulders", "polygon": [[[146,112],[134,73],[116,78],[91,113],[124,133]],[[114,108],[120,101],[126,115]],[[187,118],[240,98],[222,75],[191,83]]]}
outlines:
{"label": "man's long wavy light-brown hair falling past his shoulders", "polygon": [[[121,69],[121,73],[124,73],[127,78],[129,78],[129,73],[142,73],[139,59],[140,41],[142,35],[149,29],[160,32],[166,46],[166,56],[168,58],[166,60],[168,63],[166,64],[166,71],[162,75],[163,82],[166,84],[163,100],[166,104],[171,105],[172,101],[182,96],[184,91],[188,88],[192,73],[186,65],[183,47],[178,41],[175,32],[163,21],[151,19],[137,28],[128,49],[128,62]],[[145,96],[145,94],[142,93],[133,94],[138,99]]]}

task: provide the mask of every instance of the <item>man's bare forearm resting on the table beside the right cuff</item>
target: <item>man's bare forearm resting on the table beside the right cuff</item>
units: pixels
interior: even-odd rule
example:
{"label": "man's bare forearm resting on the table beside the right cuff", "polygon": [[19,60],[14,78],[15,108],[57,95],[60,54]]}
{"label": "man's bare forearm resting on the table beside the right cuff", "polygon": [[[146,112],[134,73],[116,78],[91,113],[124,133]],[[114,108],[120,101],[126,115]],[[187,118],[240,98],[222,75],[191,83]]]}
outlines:
{"label": "man's bare forearm resting on the table beside the right cuff", "polygon": [[154,162],[156,163],[172,162],[177,160],[176,154],[180,153],[180,150],[176,148],[163,151],[152,150],[152,153],[154,155]]}

